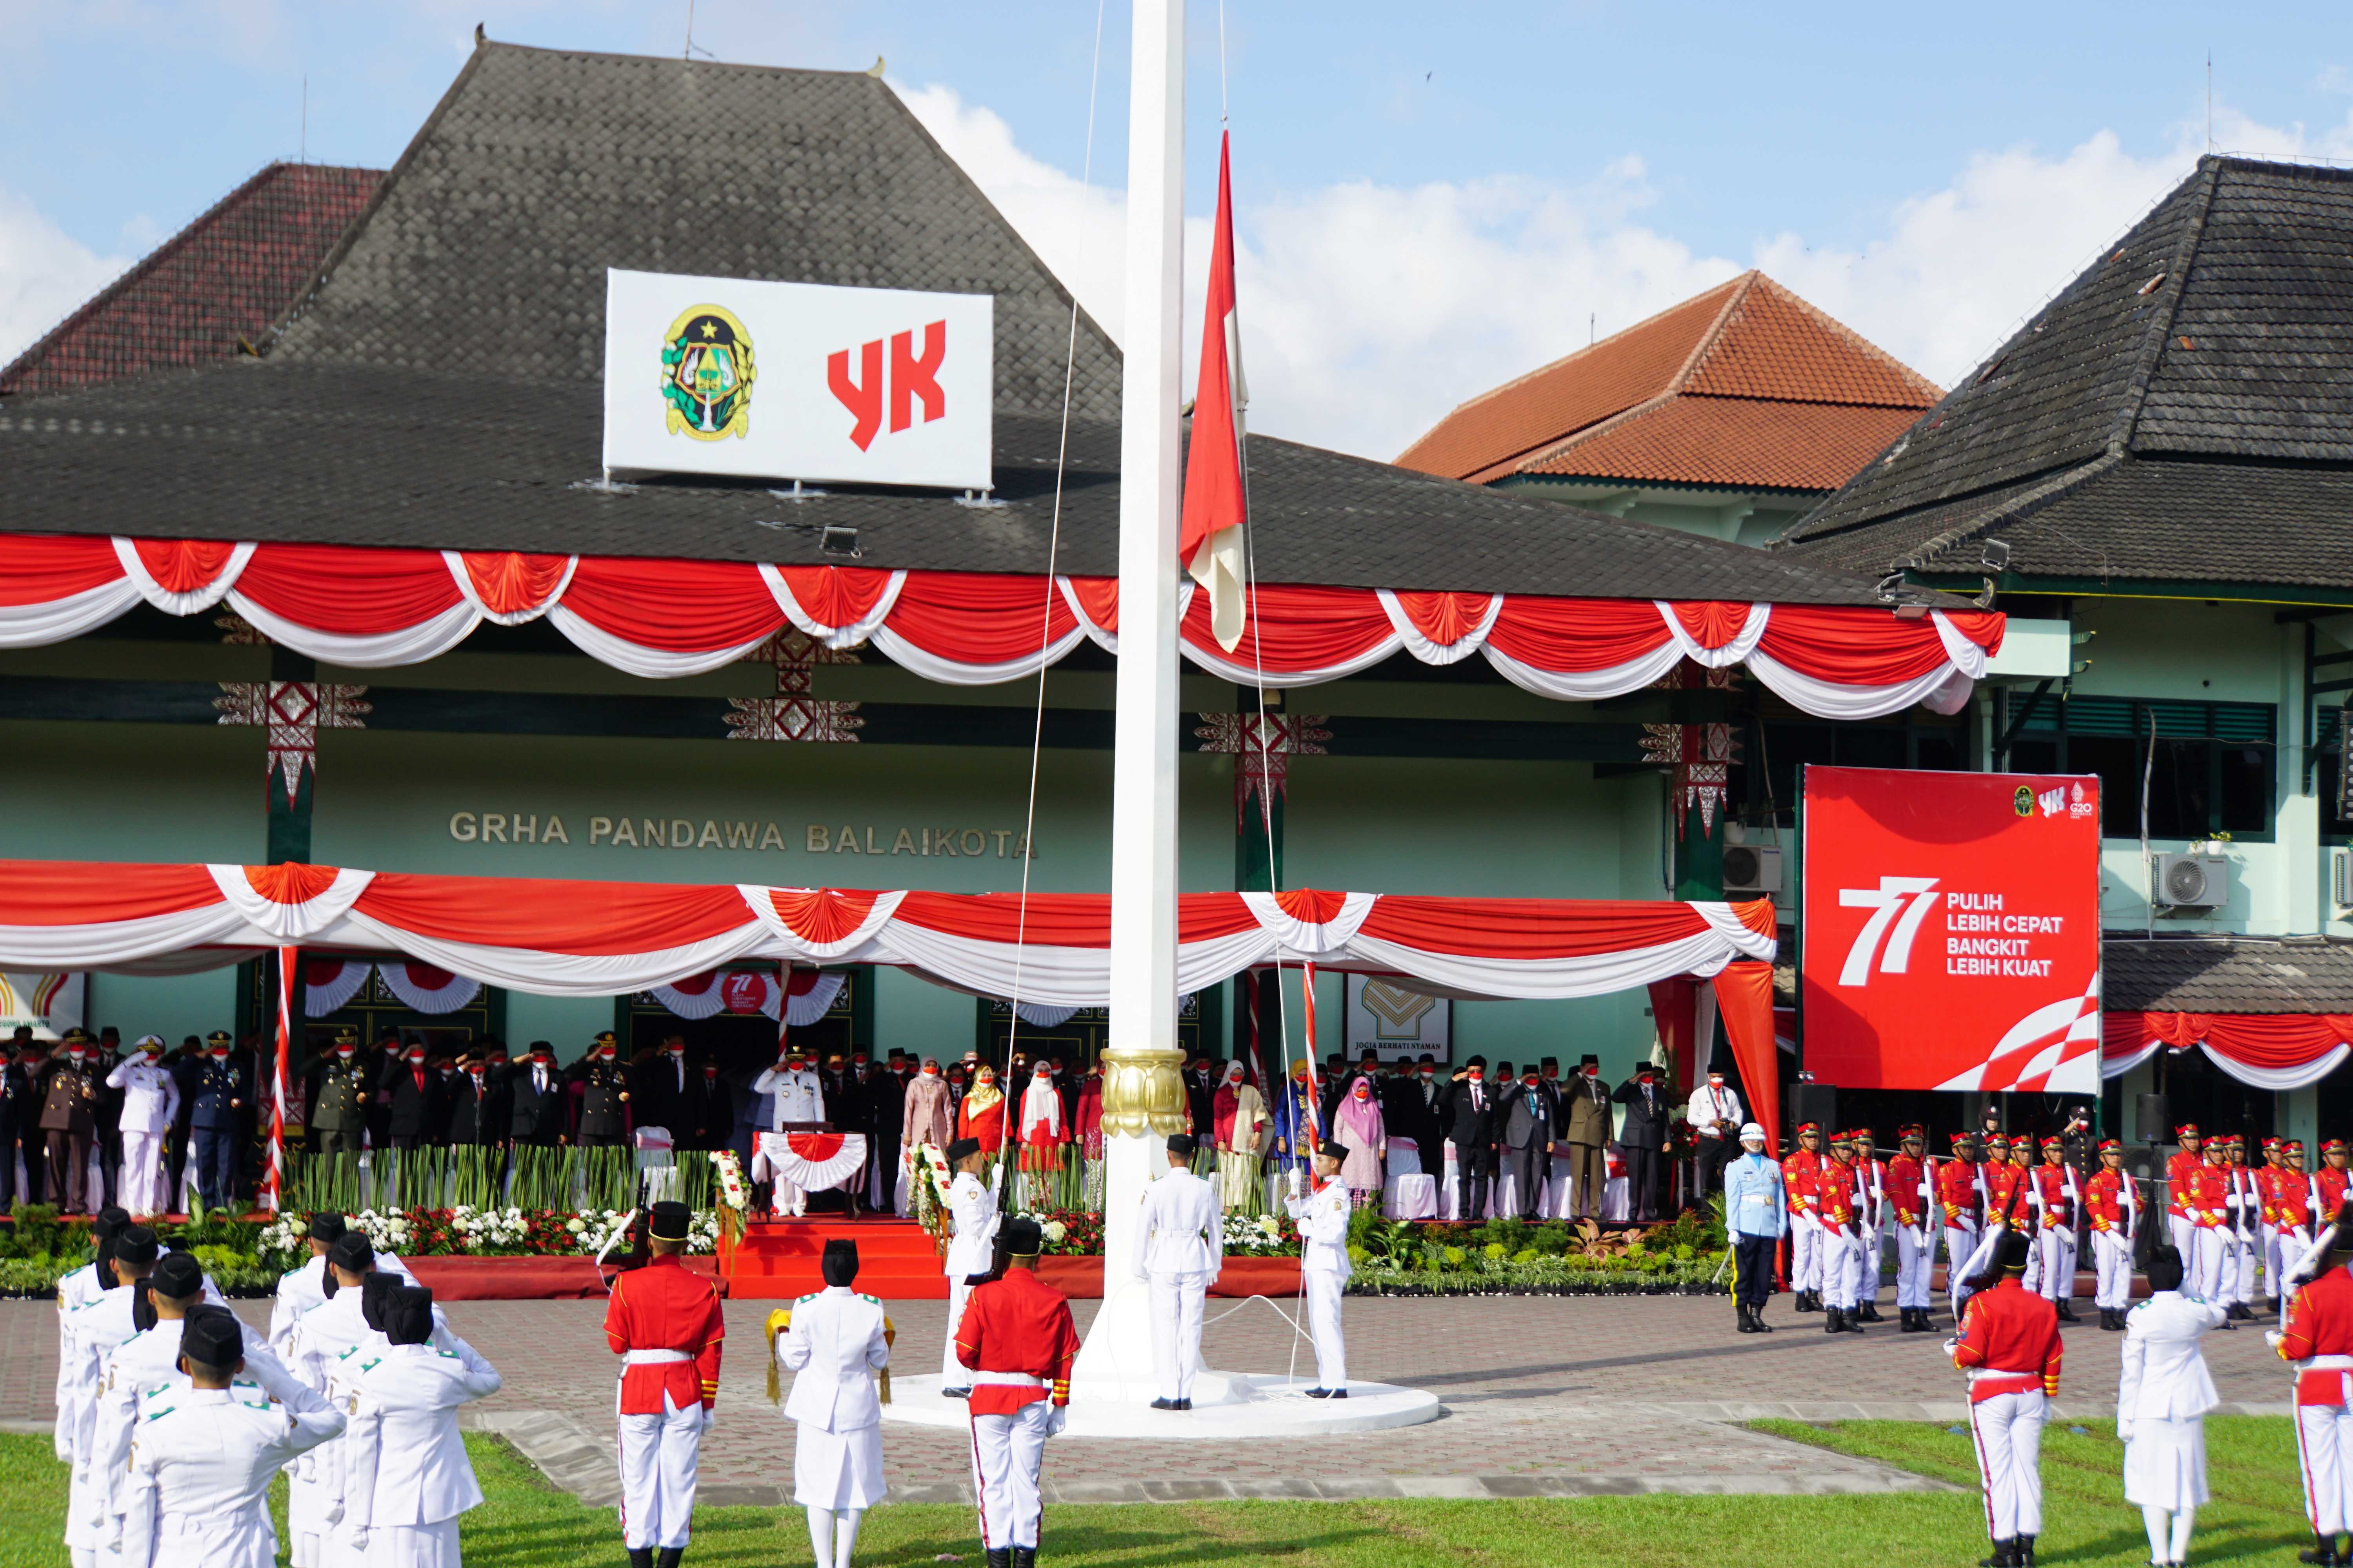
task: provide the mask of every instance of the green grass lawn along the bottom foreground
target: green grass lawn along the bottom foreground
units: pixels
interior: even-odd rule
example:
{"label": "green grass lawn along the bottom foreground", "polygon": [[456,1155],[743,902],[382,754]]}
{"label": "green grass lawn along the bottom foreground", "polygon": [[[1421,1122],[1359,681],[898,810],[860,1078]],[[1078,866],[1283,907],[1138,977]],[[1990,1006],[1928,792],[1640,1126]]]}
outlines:
{"label": "green grass lawn along the bottom foreground", "polygon": [[[1882,1460],[1944,1481],[1974,1481],[1967,1436],[1908,1422],[1758,1422],[1805,1443]],[[468,1436],[489,1502],[466,1516],[471,1568],[598,1568],[621,1563],[612,1509],[591,1509],[541,1481],[496,1439]],[[2294,1436],[2285,1420],[2207,1422],[2214,1502],[2200,1514],[2193,1563],[2294,1563],[2304,1542]],[[1047,1460],[1052,1465],[1052,1460]],[[2052,1568],[2141,1563],[2139,1514],[2122,1502],[2120,1448],[2106,1427],[2057,1427],[2042,1448]],[[45,1436],[0,1436],[0,1568],[66,1563],[59,1544],[66,1476]],[[694,1568],[807,1563],[798,1509],[704,1509]],[[1972,1493],[1882,1497],[1593,1497],[1525,1502],[1200,1502],[1047,1509],[1052,1563],[1167,1568],[1174,1563],[1337,1563],[1442,1568],[1454,1563],[1593,1563],[1626,1568],[1927,1568],[1974,1563],[1984,1523]],[[880,1507],[859,1533],[859,1561],[922,1566],[953,1552],[981,1568],[972,1512]]]}

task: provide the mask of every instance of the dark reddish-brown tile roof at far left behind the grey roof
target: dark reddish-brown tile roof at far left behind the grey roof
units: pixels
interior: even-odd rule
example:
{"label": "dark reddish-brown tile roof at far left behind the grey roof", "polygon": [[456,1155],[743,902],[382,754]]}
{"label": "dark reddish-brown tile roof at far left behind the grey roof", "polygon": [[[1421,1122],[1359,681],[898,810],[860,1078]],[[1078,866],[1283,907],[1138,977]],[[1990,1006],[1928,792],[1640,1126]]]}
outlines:
{"label": "dark reddish-brown tile roof at far left behind the grey roof", "polygon": [[59,393],[238,353],[318,277],[379,169],[275,162],[0,369],[0,395]]}

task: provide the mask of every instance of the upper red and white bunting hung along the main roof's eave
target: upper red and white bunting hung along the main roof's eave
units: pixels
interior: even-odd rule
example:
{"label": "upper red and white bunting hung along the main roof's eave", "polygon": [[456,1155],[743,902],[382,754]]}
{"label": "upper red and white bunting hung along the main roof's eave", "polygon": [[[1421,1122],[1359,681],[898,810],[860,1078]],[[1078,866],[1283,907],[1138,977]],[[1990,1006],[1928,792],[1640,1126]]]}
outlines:
{"label": "upper red and white bunting hung along the main roof's eave", "polygon": [[[1219,651],[1207,597],[1186,604],[1186,656],[1235,682],[1306,686],[1412,654],[1482,654],[1562,701],[1654,684],[1689,658],[1748,665],[1793,708],[1866,719],[1927,703],[1958,712],[2002,644],[1993,611],[1849,604],[1558,599],[1268,583],[1238,654]],[[873,567],[772,567],[598,555],[249,545],[19,534],[0,545],[0,649],[78,637],[136,604],[193,616],[226,604],[271,642],[346,668],[447,654],[482,621],[546,616],[581,651],[645,677],[715,670],[795,625],[826,646],[873,642],[936,682],[1035,675],[1082,639],[1118,651],[1118,581]],[[1242,658],[1240,649],[1249,649]]]}

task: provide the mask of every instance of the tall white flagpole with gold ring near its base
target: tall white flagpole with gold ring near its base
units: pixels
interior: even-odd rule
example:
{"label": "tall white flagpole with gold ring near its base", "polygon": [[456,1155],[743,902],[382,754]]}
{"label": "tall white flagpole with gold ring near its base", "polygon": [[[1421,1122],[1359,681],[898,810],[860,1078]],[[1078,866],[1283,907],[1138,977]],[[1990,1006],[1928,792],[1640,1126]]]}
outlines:
{"label": "tall white flagpole with gold ring near its base", "polygon": [[1104,1048],[1104,1307],[1080,1396],[1153,1396],[1129,1260],[1144,1187],[1184,1128],[1176,1070],[1176,520],[1184,284],[1184,0],[1134,0],[1120,378],[1120,672],[1111,769],[1111,1032]]}

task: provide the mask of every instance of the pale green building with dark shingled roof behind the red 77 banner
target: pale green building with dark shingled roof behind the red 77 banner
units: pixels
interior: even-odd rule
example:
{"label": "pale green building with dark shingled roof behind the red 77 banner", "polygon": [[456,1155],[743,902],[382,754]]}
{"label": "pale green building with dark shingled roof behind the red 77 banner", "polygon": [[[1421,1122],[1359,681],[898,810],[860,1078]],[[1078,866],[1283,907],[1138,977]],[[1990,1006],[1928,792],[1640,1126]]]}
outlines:
{"label": "pale green building with dark shingled roof behind the red 77 banner", "polygon": [[[2200,158],[1777,545],[2068,642],[1979,693],[1977,766],[2101,776],[2111,1023],[2353,1013],[2348,301],[2353,169]],[[2311,1140],[2346,1077],[2167,1053],[2111,1093]]]}

